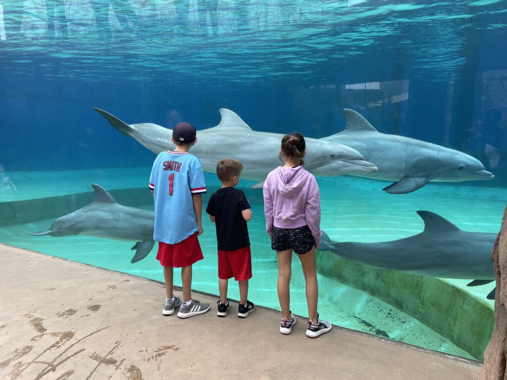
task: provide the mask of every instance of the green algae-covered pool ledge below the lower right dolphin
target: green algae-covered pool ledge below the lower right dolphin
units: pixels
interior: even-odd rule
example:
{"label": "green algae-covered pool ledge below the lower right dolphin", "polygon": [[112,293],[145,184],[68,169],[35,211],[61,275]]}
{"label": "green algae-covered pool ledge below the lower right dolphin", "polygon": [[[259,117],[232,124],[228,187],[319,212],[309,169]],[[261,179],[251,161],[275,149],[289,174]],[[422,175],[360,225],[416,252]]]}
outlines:
{"label": "green algae-covered pool ledge below the lower right dolphin", "polygon": [[317,251],[317,272],[403,310],[483,360],[495,317],[479,298],[437,278],[380,270],[328,251]]}

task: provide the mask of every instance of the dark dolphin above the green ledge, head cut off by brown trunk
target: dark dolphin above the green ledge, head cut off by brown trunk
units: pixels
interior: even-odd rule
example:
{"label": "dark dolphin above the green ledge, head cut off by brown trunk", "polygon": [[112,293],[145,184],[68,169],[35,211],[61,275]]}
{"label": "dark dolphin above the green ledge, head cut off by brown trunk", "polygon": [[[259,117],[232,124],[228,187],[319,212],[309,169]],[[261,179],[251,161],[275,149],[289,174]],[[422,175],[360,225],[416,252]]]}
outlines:
{"label": "dark dolphin above the green ledge, head cut off by brown trunk", "polygon": [[380,243],[333,243],[323,234],[319,250],[331,251],[370,267],[452,279],[495,279],[491,250],[496,234],[466,232],[429,211],[417,211],[424,221],[420,234]]}

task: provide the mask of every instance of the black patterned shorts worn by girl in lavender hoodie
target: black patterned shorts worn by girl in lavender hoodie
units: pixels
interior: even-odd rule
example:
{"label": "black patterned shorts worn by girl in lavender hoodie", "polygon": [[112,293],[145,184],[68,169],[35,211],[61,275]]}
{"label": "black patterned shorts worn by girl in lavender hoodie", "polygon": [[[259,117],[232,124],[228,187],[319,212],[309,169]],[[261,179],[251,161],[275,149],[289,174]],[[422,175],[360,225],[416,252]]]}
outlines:
{"label": "black patterned shorts worn by girl in lavender hoodie", "polygon": [[314,245],[312,232],[307,225],[297,229],[279,229],[273,226],[271,249],[275,251],[285,251],[292,248],[298,255],[302,255],[308,253]]}

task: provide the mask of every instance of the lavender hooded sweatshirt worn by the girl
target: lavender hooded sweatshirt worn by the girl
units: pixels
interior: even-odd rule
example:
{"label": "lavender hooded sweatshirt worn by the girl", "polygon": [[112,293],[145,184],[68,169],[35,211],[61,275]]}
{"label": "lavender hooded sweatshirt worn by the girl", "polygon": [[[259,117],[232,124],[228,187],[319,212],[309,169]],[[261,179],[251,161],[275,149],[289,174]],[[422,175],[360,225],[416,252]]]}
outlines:
{"label": "lavender hooded sweatshirt worn by the girl", "polygon": [[273,225],[280,229],[308,225],[315,245],[320,245],[320,193],[315,177],[302,166],[279,166],[268,174],[264,182],[264,213],[270,236]]}

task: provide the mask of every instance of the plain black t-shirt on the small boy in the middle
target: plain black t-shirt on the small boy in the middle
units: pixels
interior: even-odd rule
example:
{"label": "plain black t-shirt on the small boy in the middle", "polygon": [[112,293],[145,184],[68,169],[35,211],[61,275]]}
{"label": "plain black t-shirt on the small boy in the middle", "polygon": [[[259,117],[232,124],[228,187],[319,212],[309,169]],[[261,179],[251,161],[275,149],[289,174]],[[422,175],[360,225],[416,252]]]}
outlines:
{"label": "plain black t-shirt on the small boy in the middle", "polygon": [[206,212],[215,217],[219,250],[234,251],[250,246],[246,220],[241,215],[241,210],[249,208],[245,193],[237,188],[219,188],[211,194]]}

